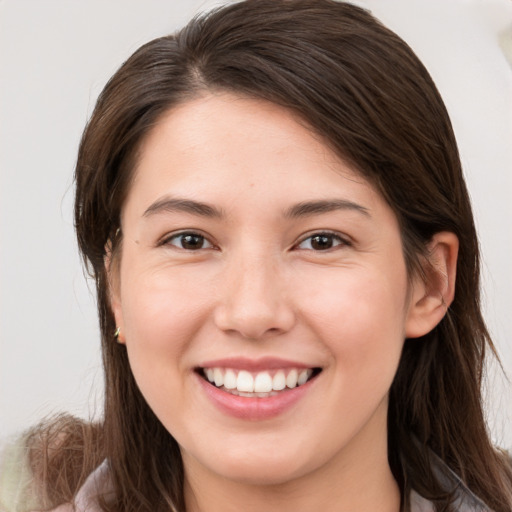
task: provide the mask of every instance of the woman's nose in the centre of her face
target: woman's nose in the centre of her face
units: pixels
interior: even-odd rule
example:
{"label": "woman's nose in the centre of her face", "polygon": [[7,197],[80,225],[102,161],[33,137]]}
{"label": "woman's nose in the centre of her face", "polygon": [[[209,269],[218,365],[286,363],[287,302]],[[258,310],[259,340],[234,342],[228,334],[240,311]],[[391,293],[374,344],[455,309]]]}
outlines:
{"label": "woman's nose in the centre of her face", "polygon": [[219,329],[258,340],[293,327],[295,312],[276,267],[268,255],[229,265],[214,314]]}

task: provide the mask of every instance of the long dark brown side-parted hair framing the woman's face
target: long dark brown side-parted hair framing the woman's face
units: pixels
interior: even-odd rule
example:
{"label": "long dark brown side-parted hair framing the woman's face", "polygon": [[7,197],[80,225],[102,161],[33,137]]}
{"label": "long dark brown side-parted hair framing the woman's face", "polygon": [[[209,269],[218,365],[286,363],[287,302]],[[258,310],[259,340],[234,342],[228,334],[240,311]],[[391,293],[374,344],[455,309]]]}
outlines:
{"label": "long dark brown side-parted hair framing the woman's face", "polygon": [[404,41],[365,10],[332,0],[247,0],[212,11],[136,51],[98,99],[78,154],[75,221],[96,280],[102,333],[102,450],[115,489],[104,510],[184,511],[178,445],[114,341],[105,256],[108,248],[115,259],[122,243],[120,212],[144,137],[164,112],[209,90],[293,111],[370,180],[397,215],[411,275],[433,234],[457,235],[453,304],[432,332],[406,340],[390,391],[389,462],[404,509],[415,489],[437,510],[453,510],[428,447],[495,512],[509,511],[512,474],[482,413],[484,355],[494,347],[480,310],[478,242],[448,114]]}

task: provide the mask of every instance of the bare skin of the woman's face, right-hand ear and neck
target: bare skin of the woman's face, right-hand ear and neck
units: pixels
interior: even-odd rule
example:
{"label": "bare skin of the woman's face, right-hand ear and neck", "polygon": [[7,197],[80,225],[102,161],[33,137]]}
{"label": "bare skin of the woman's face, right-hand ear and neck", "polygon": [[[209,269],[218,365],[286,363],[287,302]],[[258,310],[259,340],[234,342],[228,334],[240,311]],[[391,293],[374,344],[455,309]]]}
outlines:
{"label": "bare skin of the woman's face, right-hand ear and neck", "polygon": [[[170,198],[221,215],[163,208]],[[334,199],[345,206],[289,215]],[[183,248],[183,231],[204,242]],[[431,243],[437,277],[410,280],[380,194],[288,111],[230,94],[163,116],[122,232],[112,306],[137,383],[181,447],[187,510],[399,510],[388,391],[405,337],[452,299],[456,238]],[[318,233],[330,248],[312,245]],[[250,421],[220,411],[194,372],[234,356],[322,372],[293,407]]]}

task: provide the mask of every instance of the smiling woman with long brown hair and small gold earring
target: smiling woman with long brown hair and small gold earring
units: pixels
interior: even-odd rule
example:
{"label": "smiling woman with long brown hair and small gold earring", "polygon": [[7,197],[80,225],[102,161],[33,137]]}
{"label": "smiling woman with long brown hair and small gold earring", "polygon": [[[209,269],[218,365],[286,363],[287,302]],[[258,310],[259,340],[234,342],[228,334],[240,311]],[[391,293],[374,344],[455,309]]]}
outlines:
{"label": "smiling woman with long brown hair and small gold earring", "polygon": [[44,506],[511,510],[451,125],[368,13],[253,0],[148,43],[76,183],[105,418],[29,437]]}

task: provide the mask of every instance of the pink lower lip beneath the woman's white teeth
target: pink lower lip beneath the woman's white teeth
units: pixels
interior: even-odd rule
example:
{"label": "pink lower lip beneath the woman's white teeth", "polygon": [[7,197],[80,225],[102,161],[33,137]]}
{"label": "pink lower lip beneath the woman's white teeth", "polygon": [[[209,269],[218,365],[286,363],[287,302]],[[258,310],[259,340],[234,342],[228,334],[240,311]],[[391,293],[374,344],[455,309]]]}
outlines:
{"label": "pink lower lip beneath the woman's white teeth", "polygon": [[262,421],[274,418],[292,408],[309,391],[316,381],[312,378],[302,386],[281,391],[279,394],[266,398],[245,397],[232,395],[210,384],[200,375],[196,374],[208,398],[223,413],[235,418],[250,421]]}

